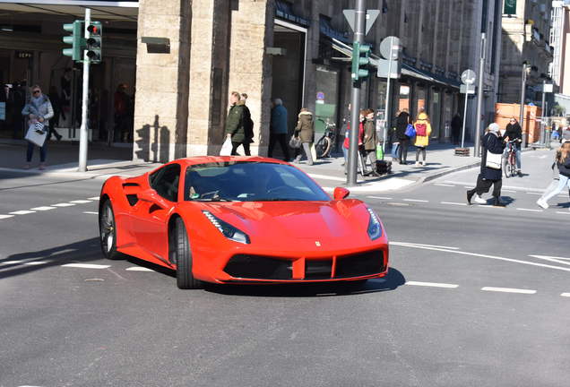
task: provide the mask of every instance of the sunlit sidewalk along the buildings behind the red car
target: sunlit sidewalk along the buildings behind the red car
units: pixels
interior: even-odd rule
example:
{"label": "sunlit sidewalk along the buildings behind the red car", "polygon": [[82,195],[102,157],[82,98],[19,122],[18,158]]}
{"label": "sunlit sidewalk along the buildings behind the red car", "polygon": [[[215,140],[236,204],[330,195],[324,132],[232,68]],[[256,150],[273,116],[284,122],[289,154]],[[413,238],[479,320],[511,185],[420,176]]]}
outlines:
{"label": "sunlit sidewalk along the buildings behind the red car", "polygon": [[[471,144],[467,144],[470,146]],[[416,167],[415,147],[410,146],[408,165],[393,164],[393,173],[381,177],[362,177],[358,175],[358,185],[351,187],[354,192],[381,193],[401,190],[420,185],[429,180],[466,168],[479,166],[479,159],[454,155],[452,144],[433,143],[427,148],[427,165]],[[471,149],[472,150],[472,149]],[[38,169],[38,150],[35,150],[32,168],[23,169],[25,164],[26,142],[0,140],[0,172],[18,171],[30,175],[91,177],[104,179],[108,176],[136,176],[157,168],[160,163],[132,161],[132,148],[109,148],[105,144],[90,143],[88,151],[88,171],[77,172],[78,144],[65,142],[48,143],[48,168]],[[386,159],[391,159],[390,157]],[[342,167],[344,159],[341,155],[329,159],[319,159],[315,165],[308,166],[306,161],[297,164],[327,189],[346,185],[346,175]]]}

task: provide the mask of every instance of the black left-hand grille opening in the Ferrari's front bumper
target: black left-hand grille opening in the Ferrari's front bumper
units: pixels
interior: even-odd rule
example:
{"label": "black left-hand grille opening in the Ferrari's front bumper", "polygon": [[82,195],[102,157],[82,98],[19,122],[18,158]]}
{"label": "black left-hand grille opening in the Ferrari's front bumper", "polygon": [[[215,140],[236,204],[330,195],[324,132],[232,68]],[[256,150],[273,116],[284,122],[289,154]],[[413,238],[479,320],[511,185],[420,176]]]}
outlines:
{"label": "black left-hand grille opening in the Ferrari's front bumper", "polygon": [[238,254],[229,259],[224,271],[232,277],[257,280],[291,280],[292,262],[260,255]]}

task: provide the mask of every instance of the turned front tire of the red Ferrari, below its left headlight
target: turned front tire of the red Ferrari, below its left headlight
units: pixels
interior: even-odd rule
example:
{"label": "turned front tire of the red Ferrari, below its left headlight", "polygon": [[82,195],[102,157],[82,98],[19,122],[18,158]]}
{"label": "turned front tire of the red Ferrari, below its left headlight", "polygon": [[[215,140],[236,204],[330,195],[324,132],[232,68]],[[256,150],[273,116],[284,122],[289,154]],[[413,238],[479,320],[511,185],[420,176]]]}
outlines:
{"label": "turned front tire of the red Ferrari, below its left headlight", "polygon": [[170,246],[174,252],[177,263],[177,285],[181,289],[202,288],[202,281],[194,279],[192,274],[192,252],[184,221],[177,218],[170,239],[174,245]]}

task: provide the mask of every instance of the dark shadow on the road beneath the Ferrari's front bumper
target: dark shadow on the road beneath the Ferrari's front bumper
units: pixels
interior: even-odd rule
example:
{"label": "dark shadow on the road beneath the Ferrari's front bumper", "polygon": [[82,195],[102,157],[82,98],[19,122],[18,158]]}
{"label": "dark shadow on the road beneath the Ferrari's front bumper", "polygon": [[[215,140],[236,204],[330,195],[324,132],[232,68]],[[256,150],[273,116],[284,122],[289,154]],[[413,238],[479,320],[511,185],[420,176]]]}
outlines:
{"label": "dark shadow on the road beneath the Ferrari's front bumper", "polygon": [[329,282],[284,285],[216,285],[206,284],[205,289],[226,296],[247,297],[327,297],[350,296],[394,290],[406,283],[402,272],[390,268],[382,279],[354,282]]}

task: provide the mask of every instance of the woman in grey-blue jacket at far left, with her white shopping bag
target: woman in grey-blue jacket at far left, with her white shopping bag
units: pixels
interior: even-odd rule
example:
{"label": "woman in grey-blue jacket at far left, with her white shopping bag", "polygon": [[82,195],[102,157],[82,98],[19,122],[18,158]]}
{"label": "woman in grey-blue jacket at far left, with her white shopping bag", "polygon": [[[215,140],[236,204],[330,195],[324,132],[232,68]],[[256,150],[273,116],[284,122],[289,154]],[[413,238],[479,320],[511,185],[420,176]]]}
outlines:
{"label": "woman in grey-blue jacket at far left, with her white shopping bag", "polygon": [[39,147],[39,169],[46,168],[46,137],[49,132],[49,119],[54,116],[54,108],[51,106],[48,96],[42,94],[38,85],[31,87],[30,101],[23,107],[22,116],[28,116],[29,127],[26,133],[28,150],[26,151],[25,169],[31,166],[31,158],[34,148]]}

